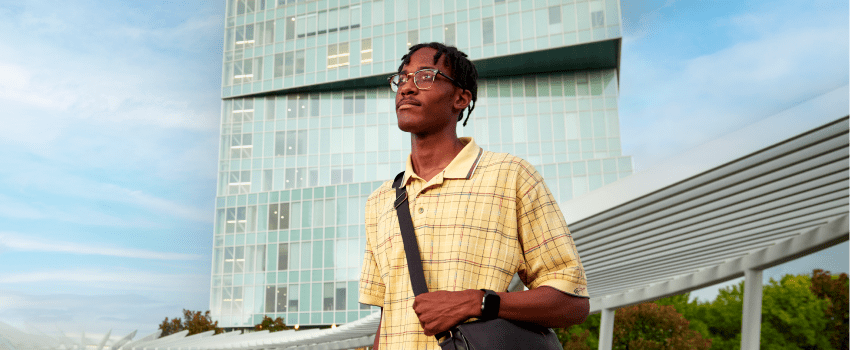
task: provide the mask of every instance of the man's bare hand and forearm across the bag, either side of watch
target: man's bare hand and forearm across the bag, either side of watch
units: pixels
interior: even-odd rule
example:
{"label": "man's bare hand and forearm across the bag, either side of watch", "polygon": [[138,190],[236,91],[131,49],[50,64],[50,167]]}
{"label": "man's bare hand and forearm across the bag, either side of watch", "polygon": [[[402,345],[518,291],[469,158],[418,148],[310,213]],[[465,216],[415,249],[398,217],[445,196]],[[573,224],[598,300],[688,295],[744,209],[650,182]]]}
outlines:
{"label": "man's bare hand and forearm across the bag, either side of watch", "polygon": [[[587,298],[575,297],[548,286],[497,294],[501,299],[499,317],[544,327],[562,328],[580,324],[590,312]],[[419,316],[425,335],[432,336],[469,318],[481,316],[483,297],[484,292],[476,289],[424,293],[414,300],[413,310]]]}

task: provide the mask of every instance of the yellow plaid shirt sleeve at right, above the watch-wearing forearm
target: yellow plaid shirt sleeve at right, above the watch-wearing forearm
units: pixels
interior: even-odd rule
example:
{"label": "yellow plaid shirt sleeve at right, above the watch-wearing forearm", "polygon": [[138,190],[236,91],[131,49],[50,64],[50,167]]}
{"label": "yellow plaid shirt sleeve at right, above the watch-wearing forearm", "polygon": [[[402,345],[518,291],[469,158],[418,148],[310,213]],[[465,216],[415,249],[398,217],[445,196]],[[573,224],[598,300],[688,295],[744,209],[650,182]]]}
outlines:
{"label": "yellow plaid shirt sleeve at right, above the watch-wearing forearm", "polygon": [[520,167],[517,234],[525,259],[520,278],[531,289],[549,286],[589,297],[584,268],[558,203],[531,164],[522,161]]}

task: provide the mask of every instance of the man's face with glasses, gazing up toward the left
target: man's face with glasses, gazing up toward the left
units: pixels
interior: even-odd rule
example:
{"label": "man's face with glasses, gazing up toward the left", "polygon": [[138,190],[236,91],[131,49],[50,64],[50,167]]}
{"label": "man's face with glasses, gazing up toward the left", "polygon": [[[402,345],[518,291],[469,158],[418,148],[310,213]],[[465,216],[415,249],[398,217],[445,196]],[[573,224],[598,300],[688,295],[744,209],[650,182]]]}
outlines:
{"label": "man's face with glasses, gazing up toward the left", "polygon": [[[452,73],[446,66],[445,56],[441,56],[437,64],[434,64],[436,53],[437,50],[430,47],[416,50],[410,57],[410,63],[402,67],[401,74],[434,68],[451,77]],[[427,90],[419,90],[416,87],[413,83],[413,75],[408,78],[406,83],[399,85],[395,96],[399,129],[412,134],[431,134],[444,130],[449,125],[454,128],[457,124],[458,113],[465,107],[463,90],[439,74],[434,84]],[[466,101],[465,104],[469,102]]]}

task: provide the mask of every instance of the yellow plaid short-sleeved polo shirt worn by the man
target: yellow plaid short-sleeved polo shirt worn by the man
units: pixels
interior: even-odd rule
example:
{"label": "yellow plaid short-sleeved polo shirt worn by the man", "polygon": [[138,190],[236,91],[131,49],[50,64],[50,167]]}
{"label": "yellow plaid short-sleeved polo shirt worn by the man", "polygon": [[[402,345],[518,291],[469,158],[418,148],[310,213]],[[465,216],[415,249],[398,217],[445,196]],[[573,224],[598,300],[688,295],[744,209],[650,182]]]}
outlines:
{"label": "yellow plaid short-sleeved polo shirt worn by the man", "polygon": [[[431,181],[407,158],[403,183],[429,291],[505,291],[514,273],[529,288],[587,297],[572,236],[543,177],[528,162],[484,151],[471,138]],[[393,208],[392,181],[366,202],[360,302],[383,307],[381,349],[439,349],[413,311],[414,294]]]}

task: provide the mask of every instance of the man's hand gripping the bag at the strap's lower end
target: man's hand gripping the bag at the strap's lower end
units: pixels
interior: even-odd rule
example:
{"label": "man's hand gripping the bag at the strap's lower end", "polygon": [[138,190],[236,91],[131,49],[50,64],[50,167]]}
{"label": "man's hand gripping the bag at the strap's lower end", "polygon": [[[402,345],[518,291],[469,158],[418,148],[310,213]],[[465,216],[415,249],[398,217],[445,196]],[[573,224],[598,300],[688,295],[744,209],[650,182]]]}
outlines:
{"label": "man's hand gripping the bag at the strap's lower end", "polygon": [[471,317],[481,316],[482,298],[484,292],[476,289],[423,293],[413,301],[413,311],[419,317],[425,335],[433,336]]}

